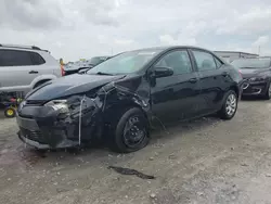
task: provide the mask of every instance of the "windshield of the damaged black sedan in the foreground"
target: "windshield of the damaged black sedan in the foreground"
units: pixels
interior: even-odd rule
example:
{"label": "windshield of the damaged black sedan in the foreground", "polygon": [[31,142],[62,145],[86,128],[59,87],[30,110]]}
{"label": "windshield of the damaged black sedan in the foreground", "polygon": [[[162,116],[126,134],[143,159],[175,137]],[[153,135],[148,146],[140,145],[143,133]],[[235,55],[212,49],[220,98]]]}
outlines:
{"label": "windshield of the damaged black sedan in the foreground", "polygon": [[131,51],[116,55],[88,72],[88,74],[105,73],[105,74],[129,74],[140,71],[147,62],[150,62],[158,50],[152,51]]}

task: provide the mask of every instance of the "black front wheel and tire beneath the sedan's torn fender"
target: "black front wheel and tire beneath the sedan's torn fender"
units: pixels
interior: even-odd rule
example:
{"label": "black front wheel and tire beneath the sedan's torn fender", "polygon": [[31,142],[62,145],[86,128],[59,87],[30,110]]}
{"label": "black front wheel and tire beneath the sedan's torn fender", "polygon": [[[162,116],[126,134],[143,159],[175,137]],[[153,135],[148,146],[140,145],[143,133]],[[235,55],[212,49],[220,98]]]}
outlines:
{"label": "black front wheel and tire beneath the sedan's torn fender", "polygon": [[[137,119],[134,120],[134,118]],[[132,126],[131,126],[131,122],[133,123]],[[130,128],[128,128],[129,126]],[[127,140],[127,135],[129,135],[129,132],[134,133],[131,130],[133,127],[137,127],[136,129],[138,129],[138,131],[136,132],[136,136],[138,133],[139,138],[141,138],[141,136],[142,138],[139,139],[138,143],[136,143],[134,145],[128,145],[128,143],[131,141]],[[127,129],[129,130],[127,131]],[[130,133],[130,139],[131,140],[137,139],[137,137],[131,136],[132,133]],[[140,133],[143,133],[143,135],[140,135]],[[119,117],[119,119],[115,124],[115,127],[113,127],[109,130],[108,137],[109,137],[108,144],[113,151],[119,152],[119,153],[136,152],[146,146],[150,141],[149,120],[140,109],[138,107],[129,109]]]}

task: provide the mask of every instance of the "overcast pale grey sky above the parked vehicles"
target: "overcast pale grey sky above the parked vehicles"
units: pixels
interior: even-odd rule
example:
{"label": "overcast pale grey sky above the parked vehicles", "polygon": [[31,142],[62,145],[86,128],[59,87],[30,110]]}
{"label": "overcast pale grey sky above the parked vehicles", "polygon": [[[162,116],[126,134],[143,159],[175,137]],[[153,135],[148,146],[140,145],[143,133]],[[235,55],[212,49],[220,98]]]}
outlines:
{"label": "overcast pale grey sky above the parked vehicles", "polygon": [[271,54],[271,2],[0,0],[0,39],[64,62],[164,44]]}

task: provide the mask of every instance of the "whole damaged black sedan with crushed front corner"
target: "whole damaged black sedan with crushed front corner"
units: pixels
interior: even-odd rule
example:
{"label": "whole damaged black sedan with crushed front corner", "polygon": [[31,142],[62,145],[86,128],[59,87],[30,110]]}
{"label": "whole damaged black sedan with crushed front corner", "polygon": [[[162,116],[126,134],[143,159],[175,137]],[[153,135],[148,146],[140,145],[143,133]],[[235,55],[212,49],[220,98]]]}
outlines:
{"label": "whole damaged black sedan with crushed front corner", "polygon": [[241,82],[237,69],[205,49],[129,51],[28,93],[17,110],[18,137],[38,149],[103,139],[132,152],[149,143],[155,124],[214,113],[231,119]]}

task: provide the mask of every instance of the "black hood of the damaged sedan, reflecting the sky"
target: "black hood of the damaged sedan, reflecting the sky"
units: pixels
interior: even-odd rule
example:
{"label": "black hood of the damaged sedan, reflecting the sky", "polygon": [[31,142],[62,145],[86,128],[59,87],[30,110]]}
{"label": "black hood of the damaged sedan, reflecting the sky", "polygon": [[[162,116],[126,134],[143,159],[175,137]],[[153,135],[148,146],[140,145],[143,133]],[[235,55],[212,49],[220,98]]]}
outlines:
{"label": "black hood of the damaged sedan, reflecting the sky", "polygon": [[50,101],[73,94],[83,93],[124,78],[125,75],[79,75],[74,74],[52,80],[44,86],[33,90],[26,100]]}

